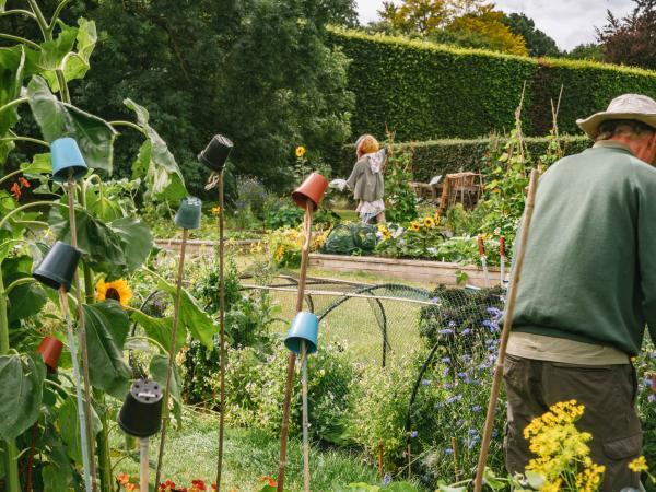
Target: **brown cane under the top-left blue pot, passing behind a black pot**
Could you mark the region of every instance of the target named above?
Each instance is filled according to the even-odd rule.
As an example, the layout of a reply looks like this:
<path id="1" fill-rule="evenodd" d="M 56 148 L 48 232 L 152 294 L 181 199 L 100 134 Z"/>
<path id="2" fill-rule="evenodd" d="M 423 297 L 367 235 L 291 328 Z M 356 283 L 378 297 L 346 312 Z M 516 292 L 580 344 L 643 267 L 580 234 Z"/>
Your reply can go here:
<path id="1" fill-rule="evenodd" d="M 75 179 L 73 178 L 73 169 L 69 172 L 68 180 L 68 204 L 69 204 L 69 224 L 71 231 L 71 246 L 78 247 L 78 225 L 75 221 Z M 91 407 L 91 378 L 89 376 L 89 352 L 86 348 L 86 325 L 84 323 L 84 309 L 82 307 L 82 290 L 80 288 L 80 276 L 75 270 L 73 277 L 75 285 L 75 301 L 78 302 L 78 340 L 80 342 L 80 352 L 82 353 L 82 379 L 84 382 L 84 414 L 86 417 L 85 426 L 86 435 L 90 437 L 87 442 L 87 453 L 90 460 L 91 483 L 94 492 L 97 492 L 97 476 L 95 467 L 95 454 L 93 449 L 93 423 L 92 423 L 92 407 Z M 68 305 L 67 305 L 68 307 Z"/>

